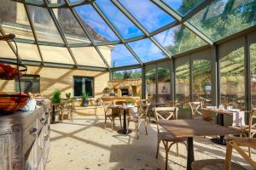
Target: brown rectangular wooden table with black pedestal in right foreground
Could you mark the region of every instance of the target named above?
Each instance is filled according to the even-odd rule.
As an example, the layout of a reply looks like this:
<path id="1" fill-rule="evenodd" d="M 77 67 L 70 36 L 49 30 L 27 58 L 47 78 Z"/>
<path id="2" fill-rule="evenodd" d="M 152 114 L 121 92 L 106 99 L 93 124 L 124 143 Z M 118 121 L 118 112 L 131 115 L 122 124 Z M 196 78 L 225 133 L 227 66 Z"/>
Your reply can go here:
<path id="1" fill-rule="evenodd" d="M 228 127 L 222 127 L 212 122 L 206 122 L 201 119 L 179 119 L 179 120 L 160 120 L 159 125 L 171 133 L 174 137 L 188 138 L 188 157 L 187 169 L 191 169 L 191 163 L 194 161 L 193 137 L 195 136 L 215 136 L 236 134 L 237 132 Z"/>

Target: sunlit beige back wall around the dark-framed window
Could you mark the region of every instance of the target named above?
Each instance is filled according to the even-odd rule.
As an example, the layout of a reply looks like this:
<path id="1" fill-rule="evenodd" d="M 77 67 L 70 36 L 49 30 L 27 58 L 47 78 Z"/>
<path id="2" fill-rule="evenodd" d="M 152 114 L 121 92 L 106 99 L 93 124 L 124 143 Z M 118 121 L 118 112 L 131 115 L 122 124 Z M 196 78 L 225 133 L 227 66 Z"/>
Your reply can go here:
<path id="1" fill-rule="evenodd" d="M 28 66 L 26 74 L 40 75 L 40 92 L 46 97 L 52 96 L 55 89 L 61 91 L 61 97 L 71 92 L 73 95 L 73 76 L 95 77 L 95 97 L 100 97 L 104 88 L 108 87 L 108 71 L 84 71 L 52 67 Z M 0 92 L 14 93 L 15 81 L 0 80 Z"/>

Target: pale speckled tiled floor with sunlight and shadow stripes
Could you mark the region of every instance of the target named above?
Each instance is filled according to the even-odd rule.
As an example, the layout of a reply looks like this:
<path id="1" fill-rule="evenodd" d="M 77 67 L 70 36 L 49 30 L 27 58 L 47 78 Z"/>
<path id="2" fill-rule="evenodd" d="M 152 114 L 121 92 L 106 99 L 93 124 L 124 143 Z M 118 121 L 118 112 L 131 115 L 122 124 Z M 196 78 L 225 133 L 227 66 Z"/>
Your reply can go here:
<path id="1" fill-rule="evenodd" d="M 156 126 L 148 126 L 148 136 L 144 132 L 143 124 L 140 129 L 140 138 L 135 133 L 120 135 L 117 127 L 111 133 L 111 124 L 104 129 L 103 116 L 76 116 L 73 122 L 66 120 L 51 125 L 51 142 L 47 170 L 143 170 L 164 169 L 165 154 L 163 145 L 160 145 L 160 156 L 155 158 Z M 134 129 L 134 125 L 131 124 Z M 225 148 L 212 144 L 209 139 L 195 138 L 195 160 L 224 158 Z M 175 156 L 174 146 L 169 155 L 169 169 L 186 168 L 186 150 L 179 144 L 180 156 Z M 233 152 L 233 161 L 247 168 L 246 162 Z M 253 153 L 256 160 L 256 154 Z"/>

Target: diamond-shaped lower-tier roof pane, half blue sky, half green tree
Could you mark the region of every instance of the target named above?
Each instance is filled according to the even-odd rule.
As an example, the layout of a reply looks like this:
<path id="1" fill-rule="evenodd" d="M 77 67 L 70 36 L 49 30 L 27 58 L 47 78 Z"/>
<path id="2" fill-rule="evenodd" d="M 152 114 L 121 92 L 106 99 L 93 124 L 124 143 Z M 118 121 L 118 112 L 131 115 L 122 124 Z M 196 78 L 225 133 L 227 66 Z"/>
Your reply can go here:
<path id="1" fill-rule="evenodd" d="M 170 54 L 180 54 L 206 45 L 200 37 L 185 26 L 175 26 L 154 36 Z"/>

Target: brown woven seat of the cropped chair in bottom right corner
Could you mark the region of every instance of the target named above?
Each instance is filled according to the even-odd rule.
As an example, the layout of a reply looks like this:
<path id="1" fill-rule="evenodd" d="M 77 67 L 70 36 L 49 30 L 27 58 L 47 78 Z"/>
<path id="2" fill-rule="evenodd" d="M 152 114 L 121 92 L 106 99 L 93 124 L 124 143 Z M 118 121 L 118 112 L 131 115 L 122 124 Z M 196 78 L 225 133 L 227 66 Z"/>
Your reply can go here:
<path id="1" fill-rule="evenodd" d="M 193 170 L 220 170 L 225 167 L 225 160 L 222 159 L 209 159 L 209 160 L 199 160 L 192 162 Z M 241 167 L 241 165 L 231 162 L 231 170 L 246 170 L 246 168 Z"/>

